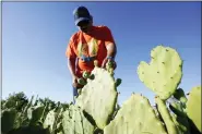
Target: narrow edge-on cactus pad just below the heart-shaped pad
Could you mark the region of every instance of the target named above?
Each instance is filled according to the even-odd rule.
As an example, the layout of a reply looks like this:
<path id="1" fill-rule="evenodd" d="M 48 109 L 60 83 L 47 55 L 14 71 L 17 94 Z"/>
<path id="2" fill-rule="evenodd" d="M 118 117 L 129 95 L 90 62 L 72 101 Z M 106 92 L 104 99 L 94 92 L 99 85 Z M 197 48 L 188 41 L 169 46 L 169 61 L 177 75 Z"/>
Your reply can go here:
<path id="1" fill-rule="evenodd" d="M 157 96 L 155 97 L 155 101 L 157 105 L 157 110 L 166 124 L 168 134 L 178 134 L 177 126 L 175 125 L 173 118 L 166 107 L 166 102 Z"/>

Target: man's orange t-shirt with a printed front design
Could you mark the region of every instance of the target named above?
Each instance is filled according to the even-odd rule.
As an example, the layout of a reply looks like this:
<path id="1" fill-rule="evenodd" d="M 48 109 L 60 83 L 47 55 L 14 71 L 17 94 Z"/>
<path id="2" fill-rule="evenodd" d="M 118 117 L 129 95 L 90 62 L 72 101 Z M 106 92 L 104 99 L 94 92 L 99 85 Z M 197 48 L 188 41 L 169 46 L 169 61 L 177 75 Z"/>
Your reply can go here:
<path id="1" fill-rule="evenodd" d="M 94 62 L 85 62 L 80 59 L 81 56 L 95 57 L 100 66 L 103 60 L 107 57 L 106 46 L 109 42 L 115 44 L 110 29 L 107 26 L 93 26 L 91 35 L 79 31 L 70 38 L 66 56 L 68 58 L 79 58 L 78 70 L 80 73 L 92 71 Z"/>

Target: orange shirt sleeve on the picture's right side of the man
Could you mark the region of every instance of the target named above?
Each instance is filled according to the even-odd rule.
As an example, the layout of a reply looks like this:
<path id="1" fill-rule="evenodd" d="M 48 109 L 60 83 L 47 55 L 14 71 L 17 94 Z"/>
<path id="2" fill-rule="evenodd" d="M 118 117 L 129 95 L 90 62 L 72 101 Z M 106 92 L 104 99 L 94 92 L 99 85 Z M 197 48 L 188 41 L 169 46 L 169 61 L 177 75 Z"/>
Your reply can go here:
<path id="1" fill-rule="evenodd" d="M 112 37 L 111 31 L 107 27 L 104 26 L 104 34 L 105 34 L 105 45 L 107 46 L 108 44 L 115 44 L 115 39 Z"/>

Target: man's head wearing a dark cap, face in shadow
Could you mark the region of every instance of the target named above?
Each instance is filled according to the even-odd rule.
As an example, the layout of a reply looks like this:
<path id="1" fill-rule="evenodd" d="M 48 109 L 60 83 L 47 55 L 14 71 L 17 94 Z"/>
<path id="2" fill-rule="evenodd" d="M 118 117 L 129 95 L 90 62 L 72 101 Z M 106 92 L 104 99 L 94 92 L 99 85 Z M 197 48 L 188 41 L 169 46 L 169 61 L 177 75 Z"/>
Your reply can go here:
<path id="1" fill-rule="evenodd" d="M 75 25 L 84 33 L 88 33 L 93 25 L 93 16 L 85 7 L 79 7 L 73 12 Z"/>

